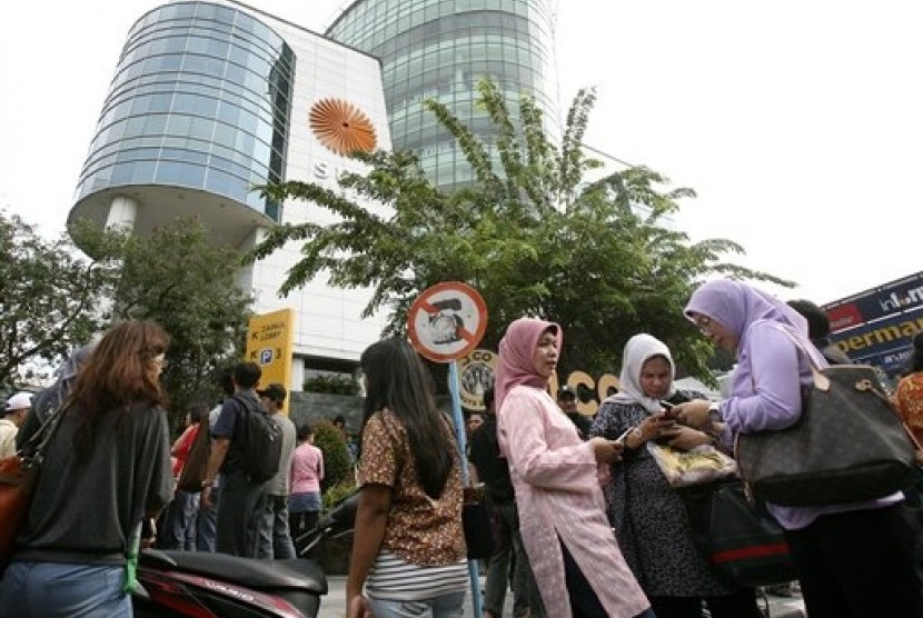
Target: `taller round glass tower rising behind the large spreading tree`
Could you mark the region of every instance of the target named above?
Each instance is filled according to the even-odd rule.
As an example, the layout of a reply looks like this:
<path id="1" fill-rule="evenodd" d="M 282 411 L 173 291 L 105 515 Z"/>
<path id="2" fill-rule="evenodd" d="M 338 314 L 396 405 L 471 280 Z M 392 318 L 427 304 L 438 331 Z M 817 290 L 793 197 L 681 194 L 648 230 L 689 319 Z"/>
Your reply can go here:
<path id="1" fill-rule="evenodd" d="M 554 54 L 555 0 L 357 0 L 328 28 L 331 39 L 381 59 L 395 149 L 417 152 L 443 188 L 473 180 L 455 139 L 425 111 L 436 99 L 489 143 L 487 114 L 475 86 L 488 76 L 517 113 L 535 97 L 546 128 L 560 132 Z"/>

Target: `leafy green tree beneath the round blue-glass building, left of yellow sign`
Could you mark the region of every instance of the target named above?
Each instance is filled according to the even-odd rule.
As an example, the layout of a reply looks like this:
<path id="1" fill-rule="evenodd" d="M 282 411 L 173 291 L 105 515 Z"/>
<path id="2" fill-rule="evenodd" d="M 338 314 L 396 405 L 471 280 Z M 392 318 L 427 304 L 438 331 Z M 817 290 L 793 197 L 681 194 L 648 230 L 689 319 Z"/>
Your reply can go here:
<path id="1" fill-rule="evenodd" d="M 217 395 L 219 368 L 242 355 L 251 300 L 237 283 L 241 253 L 215 245 L 193 218 L 146 236 L 100 231 L 88 222 L 71 233 L 116 267 L 107 318 L 152 319 L 170 335 L 161 380 L 176 427 L 189 403 Z"/>

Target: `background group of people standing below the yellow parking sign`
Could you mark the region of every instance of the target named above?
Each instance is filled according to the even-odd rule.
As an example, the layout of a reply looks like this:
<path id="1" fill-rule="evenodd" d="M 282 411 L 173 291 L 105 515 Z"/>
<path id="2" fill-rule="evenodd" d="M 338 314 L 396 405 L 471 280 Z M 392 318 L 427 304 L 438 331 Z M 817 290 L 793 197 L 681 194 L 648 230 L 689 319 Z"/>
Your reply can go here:
<path id="1" fill-rule="evenodd" d="M 258 388 L 259 366 L 241 362 L 220 376 L 225 399 L 214 408 L 193 403 L 187 427 L 171 448 L 173 478 L 179 479 L 199 431 L 210 439 L 201 487 L 177 487 L 161 515 L 156 546 L 170 550 L 219 551 L 232 556 L 291 559 L 299 538 L 321 510 L 324 456 L 314 446 L 310 425 L 296 428 L 284 413 L 288 392 L 281 383 Z M 245 415 L 266 413 L 278 426 L 278 470 L 255 480 L 245 466 Z"/>

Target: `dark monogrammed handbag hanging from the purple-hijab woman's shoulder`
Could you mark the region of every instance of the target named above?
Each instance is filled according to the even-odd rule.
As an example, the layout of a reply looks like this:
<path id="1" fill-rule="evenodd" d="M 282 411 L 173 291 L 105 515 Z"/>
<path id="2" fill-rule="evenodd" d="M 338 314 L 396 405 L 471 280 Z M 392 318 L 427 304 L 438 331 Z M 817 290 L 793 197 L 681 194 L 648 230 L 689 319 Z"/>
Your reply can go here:
<path id="1" fill-rule="evenodd" d="M 906 487 L 913 446 L 874 369 L 814 357 L 780 327 L 811 362 L 814 386 L 787 429 L 737 436 L 741 476 L 761 499 L 802 507 L 860 502 Z"/>

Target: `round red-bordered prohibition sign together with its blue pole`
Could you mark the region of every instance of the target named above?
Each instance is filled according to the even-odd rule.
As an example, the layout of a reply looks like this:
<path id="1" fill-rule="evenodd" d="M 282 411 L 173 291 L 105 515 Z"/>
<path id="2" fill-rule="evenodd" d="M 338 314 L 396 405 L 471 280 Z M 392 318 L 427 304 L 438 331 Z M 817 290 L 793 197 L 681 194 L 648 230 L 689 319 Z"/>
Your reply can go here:
<path id="1" fill-rule="evenodd" d="M 437 283 L 417 297 L 407 313 L 407 332 L 420 356 L 435 362 L 448 362 L 451 419 L 455 441 L 462 460 L 462 478 L 470 481 L 468 472 L 465 419 L 458 383 L 458 359 L 475 349 L 487 329 L 487 306 L 477 290 L 456 281 Z M 472 604 L 476 618 L 484 611 L 477 560 L 468 560 L 472 581 Z"/>

